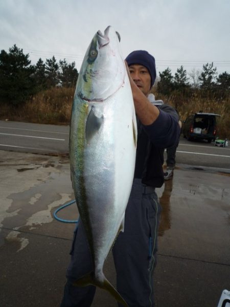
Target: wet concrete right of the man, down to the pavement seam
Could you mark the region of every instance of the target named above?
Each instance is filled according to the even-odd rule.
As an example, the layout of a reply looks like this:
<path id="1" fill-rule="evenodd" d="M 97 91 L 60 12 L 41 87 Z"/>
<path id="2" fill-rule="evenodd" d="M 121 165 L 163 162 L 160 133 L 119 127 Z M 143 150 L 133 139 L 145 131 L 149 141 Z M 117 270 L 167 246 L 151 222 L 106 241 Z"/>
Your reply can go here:
<path id="1" fill-rule="evenodd" d="M 230 265 L 228 173 L 178 166 L 158 194 L 161 253 Z"/>

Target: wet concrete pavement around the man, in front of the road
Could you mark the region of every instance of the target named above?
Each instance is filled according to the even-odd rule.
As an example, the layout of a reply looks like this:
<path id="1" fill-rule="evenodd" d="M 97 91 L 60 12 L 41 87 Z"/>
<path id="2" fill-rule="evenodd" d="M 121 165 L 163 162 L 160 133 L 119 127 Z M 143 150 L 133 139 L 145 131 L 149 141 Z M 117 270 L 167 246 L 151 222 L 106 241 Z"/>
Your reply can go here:
<path id="1" fill-rule="evenodd" d="M 179 164 L 157 193 L 156 307 L 217 306 L 230 290 L 230 174 Z M 53 213 L 74 199 L 68 158 L 0 150 L 0 199 L 0 306 L 59 306 L 75 224 Z M 76 220 L 76 205 L 58 216 Z M 111 255 L 104 271 L 116 284 Z M 117 303 L 99 289 L 92 306 Z"/>

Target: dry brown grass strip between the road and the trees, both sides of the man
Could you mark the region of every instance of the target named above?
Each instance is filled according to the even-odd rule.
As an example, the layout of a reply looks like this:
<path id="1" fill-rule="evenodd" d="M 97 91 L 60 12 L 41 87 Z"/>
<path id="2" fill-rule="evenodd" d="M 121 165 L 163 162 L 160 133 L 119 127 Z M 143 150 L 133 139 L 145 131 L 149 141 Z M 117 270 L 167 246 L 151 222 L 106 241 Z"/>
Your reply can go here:
<path id="1" fill-rule="evenodd" d="M 2 104 L 0 119 L 24 121 L 43 124 L 68 125 L 70 123 L 71 108 L 74 98 L 74 88 L 58 87 L 38 93 L 18 108 Z M 203 112 L 216 113 L 218 118 L 219 138 L 230 138 L 230 97 L 217 101 L 211 98 L 201 98 L 193 95 L 183 100 L 181 96 L 163 97 L 153 91 L 156 99 L 163 99 L 165 103 L 174 106 L 181 120 L 202 110 Z"/>

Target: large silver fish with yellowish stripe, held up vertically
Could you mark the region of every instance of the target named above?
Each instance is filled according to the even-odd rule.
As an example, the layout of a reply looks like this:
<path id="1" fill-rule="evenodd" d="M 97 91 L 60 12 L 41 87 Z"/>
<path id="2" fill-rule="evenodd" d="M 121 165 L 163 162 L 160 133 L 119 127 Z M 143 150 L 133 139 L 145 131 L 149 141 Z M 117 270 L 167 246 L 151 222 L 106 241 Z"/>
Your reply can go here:
<path id="1" fill-rule="evenodd" d="M 71 178 L 94 272 L 75 282 L 94 284 L 127 306 L 103 274 L 131 191 L 136 152 L 136 118 L 131 87 L 112 27 L 98 31 L 79 73 L 70 130 Z"/>

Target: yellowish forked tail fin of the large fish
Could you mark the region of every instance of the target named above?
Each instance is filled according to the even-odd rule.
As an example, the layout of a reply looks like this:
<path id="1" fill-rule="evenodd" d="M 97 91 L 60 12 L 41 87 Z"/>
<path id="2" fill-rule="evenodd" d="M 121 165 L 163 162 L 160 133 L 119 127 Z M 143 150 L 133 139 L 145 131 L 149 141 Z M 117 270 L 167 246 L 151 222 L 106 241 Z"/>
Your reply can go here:
<path id="1" fill-rule="evenodd" d="M 123 299 L 123 297 L 118 293 L 118 291 L 112 286 L 112 284 L 105 278 L 103 275 L 102 278 L 97 279 L 93 272 L 84 275 L 78 280 L 73 282 L 74 286 L 77 287 L 86 287 L 92 284 L 95 287 L 99 287 L 108 291 L 119 303 L 121 303 L 124 307 L 128 307 L 128 304 Z"/>

